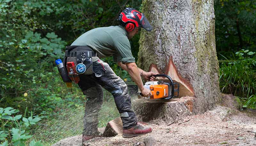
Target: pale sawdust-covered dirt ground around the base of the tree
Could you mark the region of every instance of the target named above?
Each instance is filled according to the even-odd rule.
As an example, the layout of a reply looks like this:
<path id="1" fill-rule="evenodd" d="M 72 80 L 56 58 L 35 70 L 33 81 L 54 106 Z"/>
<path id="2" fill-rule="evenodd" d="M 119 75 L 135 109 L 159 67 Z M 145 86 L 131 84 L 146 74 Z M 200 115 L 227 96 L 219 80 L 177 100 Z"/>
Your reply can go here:
<path id="1" fill-rule="evenodd" d="M 227 95 L 215 109 L 167 125 L 163 120 L 148 122 L 153 132 L 133 138 L 94 138 L 86 146 L 256 146 L 256 114 L 241 112 Z M 233 103 L 234 102 L 234 103 Z M 104 129 L 99 129 L 104 130 Z M 252 132 L 248 132 L 252 131 Z M 82 146 L 82 135 L 63 139 L 53 146 Z"/>

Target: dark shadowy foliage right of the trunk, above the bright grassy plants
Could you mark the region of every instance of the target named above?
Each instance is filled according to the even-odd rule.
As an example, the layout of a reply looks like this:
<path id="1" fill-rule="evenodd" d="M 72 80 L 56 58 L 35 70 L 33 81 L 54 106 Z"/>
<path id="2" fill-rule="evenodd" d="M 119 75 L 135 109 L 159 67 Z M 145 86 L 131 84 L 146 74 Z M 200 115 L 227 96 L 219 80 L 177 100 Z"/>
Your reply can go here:
<path id="1" fill-rule="evenodd" d="M 256 51 L 255 0 L 216 0 L 214 10 L 217 52 L 232 57 L 240 49 Z"/>

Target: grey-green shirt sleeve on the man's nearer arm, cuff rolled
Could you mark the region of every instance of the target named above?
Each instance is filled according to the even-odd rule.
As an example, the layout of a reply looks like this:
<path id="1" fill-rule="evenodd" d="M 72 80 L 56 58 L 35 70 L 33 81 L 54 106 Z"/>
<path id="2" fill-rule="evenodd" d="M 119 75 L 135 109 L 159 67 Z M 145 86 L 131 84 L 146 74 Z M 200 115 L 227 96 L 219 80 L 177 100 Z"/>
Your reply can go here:
<path id="1" fill-rule="evenodd" d="M 126 36 L 116 38 L 114 40 L 114 47 L 118 53 L 118 55 L 115 55 L 117 57 L 117 62 L 118 59 L 119 61 L 122 61 L 123 64 L 125 62 L 135 62 L 135 58 L 132 56 L 131 44 Z"/>

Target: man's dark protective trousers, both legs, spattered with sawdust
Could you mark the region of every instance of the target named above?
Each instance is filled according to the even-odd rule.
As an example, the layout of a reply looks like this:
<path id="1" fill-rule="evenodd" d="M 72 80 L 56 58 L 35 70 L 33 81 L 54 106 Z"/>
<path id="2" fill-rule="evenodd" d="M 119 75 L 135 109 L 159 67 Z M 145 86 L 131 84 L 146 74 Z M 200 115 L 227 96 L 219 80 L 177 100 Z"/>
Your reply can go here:
<path id="1" fill-rule="evenodd" d="M 99 134 L 98 112 L 103 101 L 101 87 L 112 93 L 123 121 L 123 128 L 129 129 L 137 124 L 137 117 L 132 110 L 128 87 L 120 77 L 116 76 L 108 63 L 101 60 L 93 62 L 93 74 L 80 76 L 78 85 L 88 99 L 84 111 L 83 135 Z"/>

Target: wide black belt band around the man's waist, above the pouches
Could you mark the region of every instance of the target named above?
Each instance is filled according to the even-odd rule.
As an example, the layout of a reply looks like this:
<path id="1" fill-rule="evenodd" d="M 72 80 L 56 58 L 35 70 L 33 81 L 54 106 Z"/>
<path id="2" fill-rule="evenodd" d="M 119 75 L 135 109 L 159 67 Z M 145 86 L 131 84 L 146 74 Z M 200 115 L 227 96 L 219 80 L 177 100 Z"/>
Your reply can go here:
<path id="1" fill-rule="evenodd" d="M 65 57 L 76 57 L 76 51 L 92 51 L 92 57 L 97 56 L 97 53 L 89 46 L 69 46 L 66 47 Z"/>

